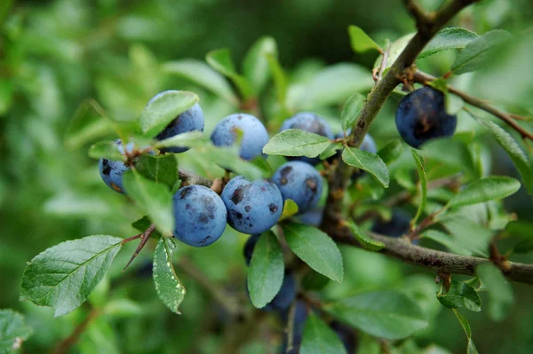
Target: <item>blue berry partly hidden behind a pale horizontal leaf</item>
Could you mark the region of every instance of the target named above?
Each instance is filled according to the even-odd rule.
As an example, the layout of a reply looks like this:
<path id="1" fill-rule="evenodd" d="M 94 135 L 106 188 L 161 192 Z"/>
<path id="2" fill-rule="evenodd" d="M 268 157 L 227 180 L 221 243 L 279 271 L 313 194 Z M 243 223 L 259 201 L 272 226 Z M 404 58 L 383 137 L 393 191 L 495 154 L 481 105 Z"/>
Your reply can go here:
<path id="1" fill-rule="evenodd" d="M 305 130 L 310 133 L 322 135 L 322 137 L 326 137 L 329 139 L 333 138 L 333 130 L 331 130 L 330 124 L 328 124 L 328 122 L 326 122 L 320 115 L 314 113 L 302 112 L 287 119 L 285 122 L 282 123 L 282 128 L 280 129 L 280 131 L 288 129 Z M 320 162 L 320 159 L 318 157 L 309 158 L 306 156 L 298 156 L 288 157 L 288 159 L 305 161 L 312 165 L 316 165 Z"/>

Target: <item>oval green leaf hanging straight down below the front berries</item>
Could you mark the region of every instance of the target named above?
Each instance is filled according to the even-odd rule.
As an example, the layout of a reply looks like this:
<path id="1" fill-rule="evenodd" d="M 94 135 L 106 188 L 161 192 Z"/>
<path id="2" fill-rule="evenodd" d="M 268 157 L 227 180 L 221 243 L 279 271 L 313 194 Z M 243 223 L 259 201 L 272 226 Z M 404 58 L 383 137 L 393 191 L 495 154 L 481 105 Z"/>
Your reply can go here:
<path id="1" fill-rule="evenodd" d="M 263 233 L 253 249 L 247 279 L 255 307 L 263 308 L 274 299 L 282 287 L 284 270 L 282 248 L 274 233 Z"/>

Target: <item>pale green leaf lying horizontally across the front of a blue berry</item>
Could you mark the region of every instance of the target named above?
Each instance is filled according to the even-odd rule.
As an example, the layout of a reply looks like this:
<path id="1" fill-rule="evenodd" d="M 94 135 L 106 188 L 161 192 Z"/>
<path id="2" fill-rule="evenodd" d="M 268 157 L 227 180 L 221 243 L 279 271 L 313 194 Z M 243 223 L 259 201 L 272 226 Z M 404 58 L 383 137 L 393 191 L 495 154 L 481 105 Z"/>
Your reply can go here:
<path id="1" fill-rule="evenodd" d="M 305 130 L 283 130 L 272 137 L 263 153 L 282 156 L 316 157 L 330 146 L 330 139 Z"/>

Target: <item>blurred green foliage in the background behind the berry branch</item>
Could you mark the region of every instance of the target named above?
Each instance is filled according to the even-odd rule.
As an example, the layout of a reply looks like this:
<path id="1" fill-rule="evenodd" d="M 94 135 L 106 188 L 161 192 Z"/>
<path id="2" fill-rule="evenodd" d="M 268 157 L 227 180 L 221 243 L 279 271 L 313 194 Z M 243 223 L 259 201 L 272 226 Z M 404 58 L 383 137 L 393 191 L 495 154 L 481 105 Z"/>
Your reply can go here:
<path id="1" fill-rule="evenodd" d="M 35 334 L 24 344 L 24 352 L 52 350 L 84 319 L 91 306 L 103 304 L 105 314 L 93 322 L 72 352 L 220 352 L 221 342 L 232 327 L 224 326 L 227 313 L 212 300 L 212 289 L 203 287 L 202 281 L 195 277 L 197 270 L 203 273 L 203 280 L 221 291 L 235 293 L 238 299 L 244 296 L 243 303 L 246 303 L 241 255 L 246 237 L 229 228 L 228 235 L 213 247 L 195 249 L 195 252 L 184 248 L 176 256 L 178 264 L 183 265 L 180 276 L 187 287 L 182 316 L 167 311 L 155 296 L 147 249 L 122 273 L 123 264 L 135 248 L 131 244 L 117 256 L 113 270 L 91 302 L 68 316 L 52 319 L 50 309 L 19 302 L 25 264 L 45 248 L 91 234 L 128 237 L 137 233 L 131 222 L 141 216 L 139 210 L 101 182 L 97 161 L 87 156 L 88 146 L 106 131 L 101 127 L 80 130 L 76 139 L 65 139 L 76 110 L 86 98 L 95 99 L 114 119 L 128 121 L 136 119 L 157 92 L 193 90 L 201 97 L 209 134 L 216 122 L 239 108 L 211 90 L 196 86 L 184 75 L 163 70 L 163 63 L 182 59 L 203 61 L 208 51 L 227 47 L 240 67 L 251 44 L 263 35 L 270 35 L 277 42 L 279 61 L 290 77 L 292 107 L 313 109 L 325 115 L 338 131 L 339 108 L 354 90 L 370 88 L 370 70 L 376 59 L 371 53 L 354 54 L 346 28 L 357 25 L 378 43 L 386 43 L 386 39 L 394 41 L 415 29 L 401 3 L 397 0 L 3 0 L 0 4 L 0 308 L 24 313 L 28 324 L 34 326 Z M 420 3 L 427 9 L 435 9 L 442 1 Z M 532 115 L 533 35 L 524 32 L 532 20 L 530 0 L 484 0 L 462 12 L 454 25 L 478 34 L 504 28 L 518 39 L 487 70 L 457 78 L 457 86 L 513 112 Z M 453 58 L 453 52 L 442 52 L 420 60 L 419 66 L 430 74 L 442 75 Z M 316 78 L 331 74 L 331 70 L 346 72 L 344 82 L 333 84 L 333 88 L 321 87 L 321 81 Z M 268 86 L 259 101 L 265 119 L 272 112 L 271 89 Z M 333 89 L 340 93 L 327 98 L 327 92 Z M 398 98 L 390 98 L 371 128 L 378 147 L 391 138 L 398 138 L 394 127 L 397 102 Z M 461 116 L 460 122 L 460 131 L 477 129 L 468 116 Z M 271 127 L 275 128 L 275 124 Z M 487 171 L 516 175 L 505 153 L 488 146 Z M 193 162 L 194 155 L 184 154 L 184 165 Z M 531 200 L 525 193 L 510 199 L 506 207 L 521 218 L 533 218 Z M 418 346 L 435 344 L 449 352 L 465 351 L 463 329 L 453 313 L 434 299 L 438 286 L 431 273 L 360 249 L 343 248 L 343 253 L 346 280 L 341 285 L 328 285 L 324 295 L 336 297 L 379 287 L 411 291 L 419 295 L 420 302 L 434 316 L 433 325 L 416 336 Z M 533 261 L 527 255 L 517 259 Z M 487 311 L 465 313 L 481 353 L 533 352 L 533 291 L 531 287 L 516 284 L 513 289 L 516 302 L 505 320 L 496 322 L 489 318 Z M 274 317 L 267 322 L 271 326 L 257 328 L 257 339 L 248 342 L 240 352 L 271 352 L 267 350 L 265 338 L 272 343 L 279 342 L 282 324 Z M 273 344 L 271 349 L 274 347 Z"/>

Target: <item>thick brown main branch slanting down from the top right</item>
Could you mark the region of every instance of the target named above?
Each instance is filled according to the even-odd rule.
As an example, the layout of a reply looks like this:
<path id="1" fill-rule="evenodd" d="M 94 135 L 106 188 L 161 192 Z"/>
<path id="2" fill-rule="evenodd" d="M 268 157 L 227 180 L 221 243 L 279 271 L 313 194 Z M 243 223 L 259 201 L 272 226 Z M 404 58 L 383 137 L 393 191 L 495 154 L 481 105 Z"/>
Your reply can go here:
<path id="1" fill-rule="evenodd" d="M 454 0 L 442 7 L 439 12 L 432 14 L 431 21 L 428 21 L 424 26 L 418 26 L 417 34 L 413 36 L 398 59 L 394 61 L 383 79 L 370 90 L 367 101 L 362 106 L 357 123 L 347 137 L 348 146 L 361 146 L 362 139 L 368 132 L 370 124 L 378 115 L 381 107 L 385 104 L 386 98 L 402 82 L 399 77 L 409 75 L 414 71 L 412 65 L 426 44 L 457 12 L 460 12 L 465 6 L 473 4 L 473 2 L 475 0 Z M 352 169 L 347 167 L 344 161 L 338 160 L 337 167 L 333 171 L 332 177 L 330 177 L 330 192 L 328 193 L 322 224 L 339 225 L 342 215 L 343 196 L 351 171 Z"/>

